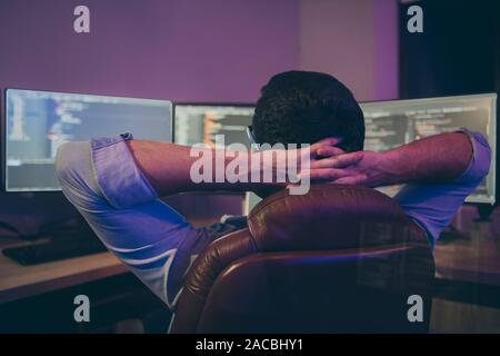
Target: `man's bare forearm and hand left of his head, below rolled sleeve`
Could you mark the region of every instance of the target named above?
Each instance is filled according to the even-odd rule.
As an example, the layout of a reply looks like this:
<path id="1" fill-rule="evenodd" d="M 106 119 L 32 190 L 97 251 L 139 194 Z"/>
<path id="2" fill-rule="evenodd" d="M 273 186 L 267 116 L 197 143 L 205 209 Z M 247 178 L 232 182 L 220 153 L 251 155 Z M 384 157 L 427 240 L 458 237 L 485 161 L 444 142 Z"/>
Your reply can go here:
<path id="1" fill-rule="evenodd" d="M 278 182 L 276 178 L 280 174 L 289 178 L 283 169 L 287 168 L 284 164 L 290 164 L 291 160 L 296 161 L 298 172 L 300 172 L 301 164 L 308 159 L 310 162 L 308 172 L 309 170 L 314 172 L 317 169 L 321 169 L 321 171 L 328 172 L 330 177 L 340 178 L 346 175 L 341 168 L 357 164 L 362 158 L 362 152 L 342 155 L 344 152 L 334 147 L 339 142 L 340 139 L 338 138 L 327 138 L 311 145 L 309 149 L 272 150 L 272 152 L 236 152 L 207 148 L 197 149 L 197 155 L 191 154 L 192 148 L 174 144 L 129 140 L 127 145 L 138 167 L 157 194 L 168 196 L 194 190 L 246 191 L 260 189 L 263 186 L 284 187 L 290 181 L 287 179 L 283 182 Z M 270 155 L 272 155 L 272 159 L 270 159 Z M 191 177 L 191 169 L 201 156 L 209 157 L 211 160 L 211 179 L 210 181 L 194 182 Z M 234 162 L 241 167 L 236 175 L 237 181 L 228 181 L 227 177 L 218 181 L 216 170 L 226 171 L 228 166 Z M 256 165 L 256 162 L 259 164 Z M 266 170 L 272 172 L 272 182 L 263 181 Z"/>

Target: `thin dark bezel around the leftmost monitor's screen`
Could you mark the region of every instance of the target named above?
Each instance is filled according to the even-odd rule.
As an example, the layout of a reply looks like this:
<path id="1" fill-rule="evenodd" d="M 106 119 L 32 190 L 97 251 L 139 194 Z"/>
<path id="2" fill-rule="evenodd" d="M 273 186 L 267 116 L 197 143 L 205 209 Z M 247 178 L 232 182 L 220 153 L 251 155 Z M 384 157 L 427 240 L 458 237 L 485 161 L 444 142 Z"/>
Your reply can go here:
<path id="1" fill-rule="evenodd" d="M 57 90 L 43 90 L 43 89 L 26 89 L 26 88 L 4 88 L 2 91 L 0 91 L 1 96 L 1 122 L 0 122 L 0 137 L 1 137 L 1 184 L 2 184 L 2 191 L 6 194 L 51 194 L 51 192 L 61 192 L 61 188 L 59 189 L 9 189 L 7 184 L 7 95 L 9 90 L 26 90 L 26 91 L 38 91 L 38 92 L 49 92 L 49 93 L 61 93 L 61 95 L 77 95 L 77 96 L 93 96 L 93 97 L 104 97 L 104 98 L 116 98 L 116 99 L 139 99 L 139 100 L 148 100 L 148 101 L 161 101 L 164 103 L 168 103 L 170 107 L 170 132 L 169 137 L 171 142 L 173 142 L 173 100 L 168 99 L 159 99 L 159 98 L 141 98 L 141 97 L 123 97 L 123 96 L 112 96 L 112 95 L 100 95 L 100 93 L 90 93 L 90 92 L 74 92 L 74 91 L 57 91 Z M 133 132 L 132 132 L 133 134 Z"/>

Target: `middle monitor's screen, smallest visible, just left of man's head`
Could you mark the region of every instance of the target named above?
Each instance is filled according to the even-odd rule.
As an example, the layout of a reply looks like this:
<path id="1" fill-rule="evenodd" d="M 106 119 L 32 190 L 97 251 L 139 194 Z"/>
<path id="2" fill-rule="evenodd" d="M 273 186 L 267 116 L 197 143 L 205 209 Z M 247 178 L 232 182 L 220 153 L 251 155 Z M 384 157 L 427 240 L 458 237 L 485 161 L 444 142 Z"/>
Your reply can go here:
<path id="1" fill-rule="evenodd" d="M 179 145 L 203 142 L 217 148 L 242 144 L 249 149 L 247 127 L 252 125 L 252 106 L 176 105 L 174 140 Z M 223 135 L 224 145 L 216 140 L 216 135 Z"/>

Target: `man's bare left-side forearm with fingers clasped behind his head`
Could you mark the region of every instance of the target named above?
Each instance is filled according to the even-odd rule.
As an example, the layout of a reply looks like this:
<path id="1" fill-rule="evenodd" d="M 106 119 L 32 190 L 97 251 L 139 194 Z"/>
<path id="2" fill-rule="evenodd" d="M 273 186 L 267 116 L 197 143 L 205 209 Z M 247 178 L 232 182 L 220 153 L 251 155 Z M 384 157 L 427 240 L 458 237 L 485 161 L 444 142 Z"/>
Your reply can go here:
<path id="1" fill-rule="evenodd" d="M 301 149 L 259 152 L 193 149 L 142 140 L 130 140 L 127 145 L 157 194 L 167 196 L 196 190 L 263 191 L 290 184 L 294 189 L 291 194 L 301 194 L 300 188 L 308 187 L 316 172 L 327 174 L 333 180 L 344 174 L 340 168 L 360 161 L 360 155 L 343 155 L 342 149 L 334 147 L 338 142 L 339 138 L 326 138 Z"/>

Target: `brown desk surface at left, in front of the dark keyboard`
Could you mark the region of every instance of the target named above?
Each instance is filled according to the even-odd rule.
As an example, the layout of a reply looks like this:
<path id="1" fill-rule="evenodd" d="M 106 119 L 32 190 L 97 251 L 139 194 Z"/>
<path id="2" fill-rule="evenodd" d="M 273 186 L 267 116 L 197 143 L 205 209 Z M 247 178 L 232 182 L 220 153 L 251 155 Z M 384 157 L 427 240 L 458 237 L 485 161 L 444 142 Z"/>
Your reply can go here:
<path id="1" fill-rule="evenodd" d="M 190 219 L 206 226 L 219 217 Z M 0 249 L 19 245 L 19 240 L 0 240 Z M 47 264 L 22 266 L 0 254 L 0 304 L 38 294 L 67 288 L 127 273 L 127 267 L 112 254 L 102 253 Z"/>

